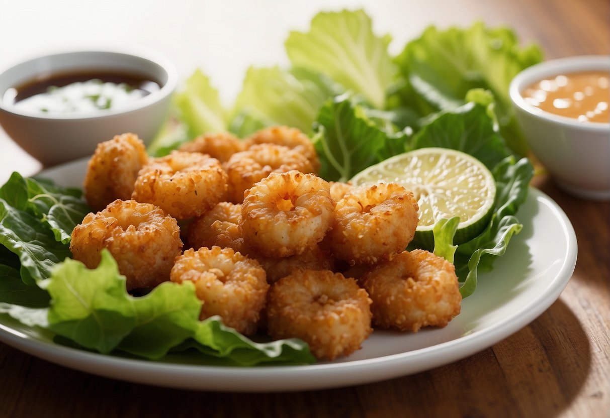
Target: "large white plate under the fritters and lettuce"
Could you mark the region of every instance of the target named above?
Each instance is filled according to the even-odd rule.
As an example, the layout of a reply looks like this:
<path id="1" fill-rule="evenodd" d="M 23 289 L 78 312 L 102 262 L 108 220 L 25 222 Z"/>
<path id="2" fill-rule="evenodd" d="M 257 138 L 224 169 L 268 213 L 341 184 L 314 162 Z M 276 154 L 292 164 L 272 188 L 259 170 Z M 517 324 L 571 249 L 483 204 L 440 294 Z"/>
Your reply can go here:
<path id="1" fill-rule="evenodd" d="M 85 160 L 41 175 L 79 186 Z M 536 319 L 561 294 L 576 264 L 576 236 L 565 213 L 531 188 L 520 208 L 522 232 L 479 277 L 462 313 L 445 328 L 418 333 L 375 331 L 362 350 L 310 366 L 218 367 L 101 355 L 55 344 L 52 335 L 0 316 L 0 339 L 17 349 L 73 369 L 138 383 L 213 391 L 297 391 L 368 383 L 421 372 L 490 347 Z"/>

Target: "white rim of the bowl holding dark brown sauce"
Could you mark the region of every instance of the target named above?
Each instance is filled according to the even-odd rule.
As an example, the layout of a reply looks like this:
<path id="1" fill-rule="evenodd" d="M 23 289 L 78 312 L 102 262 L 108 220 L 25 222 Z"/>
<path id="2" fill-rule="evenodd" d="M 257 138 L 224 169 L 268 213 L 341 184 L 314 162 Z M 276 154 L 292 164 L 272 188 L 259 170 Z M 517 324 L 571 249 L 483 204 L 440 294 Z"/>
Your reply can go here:
<path id="1" fill-rule="evenodd" d="M 15 107 L 13 105 L 7 105 L 2 100 L 0 96 L 0 110 L 6 113 L 12 113 L 13 115 L 18 115 L 24 118 L 31 119 L 49 119 L 49 120 L 78 120 L 84 121 L 87 119 L 101 119 L 108 118 L 109 116 L 122 115 L 124 113 L 134 112 L 136 110 L 140 110 L 142 108 L 148 107 L 156 102 L 163 100 L 165 97 L 169 96 L 176 90 L 176 86 L 178 85 L 178 71 L 171 61 L 162 54 L 159 54 L 156 51 L 152 51 L 150 49 L 146 49 L 143 47 L 137 48 L 127 48 L 125 46 L 112 46 L 112 47 L 103 47 L 103 48 L 95 48 L 95 49 L 87 49 L 87 48 L 79 48 L 79 49 L 65 49 L 58 50 L 52 53 L 44 54 L 44 55 L 35 55 L 34 57 L 27 58 L 26 60 L 22 60 L 17 63 L 13 63 L 0 71 L 0 77 L 2 77 L 5 73 L 10 71 L 13 68 L 18 66 L 27 66 L 27 65 L 35 65 L 35 62 L 40 60 L 45 60 L 51 57 L 57 57 L 60 55 L 78 55 L 78 54 L 110 54 L 110 55 L 125 55 L 129 57 L 140 58 L 143 60 L 147 60 L 152 64 L 158 66 L 162 69 L 165 74 L 167 74 L 167 80 L 162 83 L 159 90 L 153 91 L 151 94 L 148 94 L 144 97 L 140 97 L 139 99 L 127 102 L 122 104 L 118 108 L 109 108 L 102 110 L 93 110 L 91 112 L 82 112 L 82 113 L 44 113 L 44 112 L 36 112 L 35 110 L 27 110 Z M 85 62 L 86 63 L 86 62 Z M 92 67 L 92 69 L 95 69 Z M 116 66 L 117 70 L 121 70 L 121 66 Z M 51 70 L 54 71 L 54 70 Z M 150 71 L 145 71 L 142 69 L 142 73 L 149 75 Z M 14 88 L 14 86 L 13 86 Z M 0 91 L 0 94 L 4 94 L 5 91 Z"/>

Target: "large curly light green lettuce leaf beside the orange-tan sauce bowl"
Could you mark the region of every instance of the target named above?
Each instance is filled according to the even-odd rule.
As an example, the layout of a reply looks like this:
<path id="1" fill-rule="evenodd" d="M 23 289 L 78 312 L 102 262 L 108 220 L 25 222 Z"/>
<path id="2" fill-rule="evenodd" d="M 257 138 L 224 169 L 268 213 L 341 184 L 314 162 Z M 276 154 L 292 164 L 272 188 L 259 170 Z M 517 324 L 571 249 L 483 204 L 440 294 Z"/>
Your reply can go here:
<path id="1" fill-rule="evenodd" d="M 404 82 L 399 102 L 428 115 L 463 104 L 473 88 L 489 90 L 508 146 L 525 155 L 528 147 L 516 124 L 508 86 L 520 71 L 541 61 L 541 49 L 520 48 L 508 27 L 489 28 L 481 22 L 466 29 L 431 26 L 395 58 Z"/>

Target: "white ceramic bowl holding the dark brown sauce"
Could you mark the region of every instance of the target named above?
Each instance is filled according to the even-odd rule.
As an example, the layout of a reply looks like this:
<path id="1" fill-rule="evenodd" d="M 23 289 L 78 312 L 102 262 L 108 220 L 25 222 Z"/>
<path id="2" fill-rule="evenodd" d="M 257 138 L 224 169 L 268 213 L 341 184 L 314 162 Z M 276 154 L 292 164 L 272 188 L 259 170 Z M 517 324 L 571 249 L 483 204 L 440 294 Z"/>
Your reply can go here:
<path id="1" fill-rule="evenodd" d="M 89 113 L 34 112 L 2 102 L 9 88 L 30 82 L 41 74 L 96 70 L 142 74 L 159 82 L 161 88 L 115 109 Z M 0 73 L 0 125 L 46 166 L 91 155 L 99 142 L 124 132 L 136 133 L 148 143 L 165 120 L 177 82 L 174 66 L 154 52 L 113 49 L 46 55 Z"/>

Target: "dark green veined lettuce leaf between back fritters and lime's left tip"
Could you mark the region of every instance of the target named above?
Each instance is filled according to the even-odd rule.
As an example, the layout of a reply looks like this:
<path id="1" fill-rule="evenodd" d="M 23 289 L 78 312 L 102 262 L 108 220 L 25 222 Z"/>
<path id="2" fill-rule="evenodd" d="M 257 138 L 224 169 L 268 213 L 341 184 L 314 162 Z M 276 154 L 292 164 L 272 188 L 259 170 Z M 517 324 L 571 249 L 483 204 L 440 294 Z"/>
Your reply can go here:
<path id="1" fill-rule="evenodd" d="M 323 105 L 314 125 L 320 177 L 346 182 L 357 172 L 398 152 L 403 136 L 391 138 L 368 119 L 348 94 Z M 392 143 L 398 141 L 398 145 Z M 404 146 L 402 147 L 404 151 Z"/>

